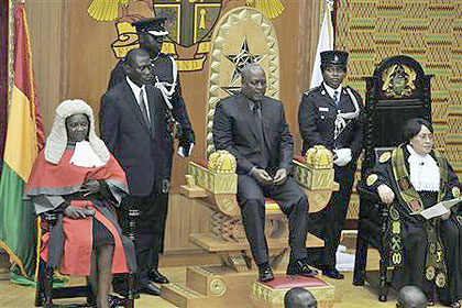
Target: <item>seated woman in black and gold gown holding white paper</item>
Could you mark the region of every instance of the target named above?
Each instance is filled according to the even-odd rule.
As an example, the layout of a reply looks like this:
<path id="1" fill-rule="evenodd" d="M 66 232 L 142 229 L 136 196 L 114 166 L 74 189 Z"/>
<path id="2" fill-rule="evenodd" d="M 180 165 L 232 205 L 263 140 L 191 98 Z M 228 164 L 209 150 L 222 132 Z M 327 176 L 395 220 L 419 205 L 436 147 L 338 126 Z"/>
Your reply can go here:
<path id="1" fill-rule="evenodd" d="M 440 152 L 433 148 L 431 124 L 411 119 L 404 128 L 406 142 L 385 152 L 369 172 L 364 189 L 378 195 L 389 207 L 391 258 L 398 288 L 415 285 L 433 289 L 449 307 L 462 299 L 462 206 L 426 220 L 420 211 L 441 200 L 460 198 L 459 179 Z"/>

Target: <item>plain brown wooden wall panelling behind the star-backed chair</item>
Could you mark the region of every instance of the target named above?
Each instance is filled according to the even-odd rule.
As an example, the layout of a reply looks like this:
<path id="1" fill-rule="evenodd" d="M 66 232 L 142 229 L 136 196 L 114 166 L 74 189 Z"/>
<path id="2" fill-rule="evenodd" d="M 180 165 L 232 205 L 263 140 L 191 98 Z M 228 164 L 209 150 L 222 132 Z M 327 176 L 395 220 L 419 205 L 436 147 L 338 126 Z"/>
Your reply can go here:
<path id="1" fill-rule="evenodd" d="M 64 98 L 81 98 L 99 111 L 110 73 L 117 63 L 110 44 L 117 40 L 113 22 L 96 22 L 86 12 L 91 1 L 28 0 L 33 52 L 42 114 L 46 131 L 53 122 L 57 103 Z M 223 1 L 224 11 L 244 6 L 245 0 Z M 148 11 L 144 2 L 133 2 L 130 10 Z M 311 62 L 319 30 L 319 1 L 284 1 L 284 13 L 273 20 L 280 47 L 280 99 L 299 153 L 297 111 L 302 91 L 309 86 Z M 193 55 L 195 46 L 179 48 Z M 183 95 L 194 125 L 197 144 L 194 157 L 206 151 L 207 78 L 209 61 L 202 72 L 182 73 Z M 184 183 L 187 160 L 174 158 L 173 193 L 166 230 L 166 252 L 197 250 L 188 235 L 208 230 L 210 210 L 200 201 L 177 194 Z"/>

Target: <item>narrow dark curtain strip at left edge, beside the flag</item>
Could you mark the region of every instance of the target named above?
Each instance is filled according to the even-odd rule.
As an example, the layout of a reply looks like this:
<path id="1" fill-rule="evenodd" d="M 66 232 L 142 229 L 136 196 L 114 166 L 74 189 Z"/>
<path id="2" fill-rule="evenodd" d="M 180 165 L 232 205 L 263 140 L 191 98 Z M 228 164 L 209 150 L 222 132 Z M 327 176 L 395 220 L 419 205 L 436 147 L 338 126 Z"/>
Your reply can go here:
<path id="1" fill-rule="evenodd" d="M 0 174 L 3 165 L 3 147 L 7 134 L 8 105 L 8 6 L 9 1 L 1 1 L 0 11 Z"/>

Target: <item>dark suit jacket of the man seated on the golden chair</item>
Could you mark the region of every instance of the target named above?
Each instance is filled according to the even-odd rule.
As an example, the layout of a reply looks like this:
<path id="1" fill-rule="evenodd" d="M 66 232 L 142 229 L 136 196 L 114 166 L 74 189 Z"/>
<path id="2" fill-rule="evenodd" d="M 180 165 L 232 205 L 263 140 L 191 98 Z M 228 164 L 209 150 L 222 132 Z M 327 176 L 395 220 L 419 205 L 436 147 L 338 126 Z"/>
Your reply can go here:
<path id="1" fill-rule="evenodd" d="M 283 103 L 268 97 L 262 100 L 266 148 L 261 148 L 253 117 L 249 101 L 242 94 L 221 100 L 213 118 L 215 147 L 227 150 L 235 156 L 239 174 L 248 174 L 256 166 L 262 151 L 270 151 L 267 172 L 274 175 L 278 168 L 285 168 L 289 173 L 294 142 L 287 128 Z"/>

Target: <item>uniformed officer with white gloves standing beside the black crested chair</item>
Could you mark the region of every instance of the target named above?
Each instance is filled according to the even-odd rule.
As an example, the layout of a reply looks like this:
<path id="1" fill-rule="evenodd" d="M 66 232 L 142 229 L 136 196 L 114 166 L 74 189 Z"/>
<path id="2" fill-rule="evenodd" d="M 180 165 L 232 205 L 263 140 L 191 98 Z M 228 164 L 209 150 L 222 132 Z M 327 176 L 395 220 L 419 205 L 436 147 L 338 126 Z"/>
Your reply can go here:
<path id="1" fill-rule="evenodd" d="M 326 248 L 321 261 L 323 274 L 343 279 L 336 268 L 336 252 L 344 227 L 351 189 L 353 187 L 356 160 L 362 148 L 362 101 L 350 87 L 342 87 L 346 74 L 348 53 L 328 51 L 321 53 L 323 81 L 304 94 L 298 111 L 298 121 L 305 152 L 317 144 L 333 152 L 336 191 L 328 207 L 310 215 L 310 231 L 324 239 Z M 312 229 L 312 230 L 311 230 Z"/>

